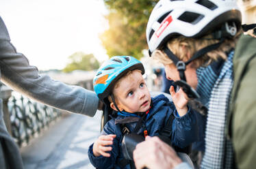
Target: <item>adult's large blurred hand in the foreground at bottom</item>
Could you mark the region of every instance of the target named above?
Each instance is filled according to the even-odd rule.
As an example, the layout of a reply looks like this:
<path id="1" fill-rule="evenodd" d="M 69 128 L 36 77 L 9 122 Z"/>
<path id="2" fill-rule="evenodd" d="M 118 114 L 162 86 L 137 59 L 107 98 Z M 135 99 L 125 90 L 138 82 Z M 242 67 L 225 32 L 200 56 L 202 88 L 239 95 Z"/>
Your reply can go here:
<path id="1" fill-rule="evenodd" d="M 144 142 L 137 144 L 133 151 L 133 160 L 136 168 L 170 169 L 182 162 L 172 147 L 157 136 L 146 136 Z"/>

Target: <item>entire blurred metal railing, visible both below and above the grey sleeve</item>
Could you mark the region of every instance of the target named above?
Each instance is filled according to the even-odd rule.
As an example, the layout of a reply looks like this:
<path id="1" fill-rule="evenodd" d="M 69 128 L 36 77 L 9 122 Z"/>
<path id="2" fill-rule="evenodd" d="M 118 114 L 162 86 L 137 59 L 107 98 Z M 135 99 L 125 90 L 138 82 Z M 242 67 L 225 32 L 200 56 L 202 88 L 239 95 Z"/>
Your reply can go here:
<path id="1" fill-rule="evenodd" d="M 81 80 L 77 85 L 92 90 L 92 79 Z M 61 110 L 13 92 L 1 82 L 0 87 L 5 125 L 19 147 L 27 145 L 62 114 Z"/>

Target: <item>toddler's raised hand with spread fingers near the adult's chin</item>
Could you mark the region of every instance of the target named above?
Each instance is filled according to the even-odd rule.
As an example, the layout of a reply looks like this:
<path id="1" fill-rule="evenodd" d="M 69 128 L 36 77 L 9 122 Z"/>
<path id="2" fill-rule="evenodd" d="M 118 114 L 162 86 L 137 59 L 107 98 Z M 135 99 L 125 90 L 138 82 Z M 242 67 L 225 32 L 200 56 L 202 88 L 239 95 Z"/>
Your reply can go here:
<path id="1" fill-rule="evenodd" d="M 179 113 L 179 116 L 187 114 L 188 112 L 188 97 L 185 92 L 180 88 L 176 93 L 175 88 L 173 86 L 170 87 L 170 95 L 172 96 L 172 102 L 175 104 L 175 107 Z"/>

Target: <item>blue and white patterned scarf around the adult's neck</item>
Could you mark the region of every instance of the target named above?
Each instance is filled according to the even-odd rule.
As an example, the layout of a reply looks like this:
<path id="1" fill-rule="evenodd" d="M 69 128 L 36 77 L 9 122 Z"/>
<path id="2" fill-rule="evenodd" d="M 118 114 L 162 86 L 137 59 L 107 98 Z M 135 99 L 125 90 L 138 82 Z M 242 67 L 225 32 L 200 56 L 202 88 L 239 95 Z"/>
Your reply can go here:
<path id="1" fill-rule="evenodd" d="M 201 168 L 232 168 L 233 149 L 231 142 L 225 137 L 225 125 L 233 87 L 233 54 L 233 50 L 229 52 L 220 72 L 214 73 L 211 66 L 197 72 L 199 77 L 204 77 L 199 79 L 203 85 L 199 86 L 197 91 L 208 108 L 205 155 Z M 216 73 L 219 75 L 216 76 Z M 207 76 L 201 76 L 202 74 Z M 207 97 L 209 91 L 210 97 Z"/>

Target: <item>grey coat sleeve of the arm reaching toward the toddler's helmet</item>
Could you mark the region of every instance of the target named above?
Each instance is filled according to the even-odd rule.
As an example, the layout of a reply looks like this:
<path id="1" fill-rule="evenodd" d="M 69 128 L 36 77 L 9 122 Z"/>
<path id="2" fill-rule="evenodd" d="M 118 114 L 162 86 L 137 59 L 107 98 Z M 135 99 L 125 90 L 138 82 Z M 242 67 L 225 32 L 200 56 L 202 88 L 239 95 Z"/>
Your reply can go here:
<path id="1" fill-rule="evenodd" d="M 27 58 L 10 43 L 8 31 L 0 17 L 0 69 L 1 81 L 27 97 L 54 108 L 94 116 L 99 99 L 82 87 L 70 86 L 40 76 L 37 67 L 29 65 Z"/>

